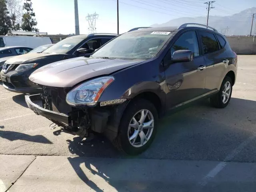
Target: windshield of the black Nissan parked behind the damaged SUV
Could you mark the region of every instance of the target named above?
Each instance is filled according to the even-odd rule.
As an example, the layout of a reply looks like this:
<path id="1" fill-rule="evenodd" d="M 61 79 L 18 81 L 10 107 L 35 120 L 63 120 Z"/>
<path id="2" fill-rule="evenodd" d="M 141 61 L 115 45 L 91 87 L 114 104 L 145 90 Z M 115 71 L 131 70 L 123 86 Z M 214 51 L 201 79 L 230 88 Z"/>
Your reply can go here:
<path id="1" fill-rule="evenodd" d="M 54 44 L 43 53 L 66 53 L 80 43 L 84 38 L 69 37 Z"/>

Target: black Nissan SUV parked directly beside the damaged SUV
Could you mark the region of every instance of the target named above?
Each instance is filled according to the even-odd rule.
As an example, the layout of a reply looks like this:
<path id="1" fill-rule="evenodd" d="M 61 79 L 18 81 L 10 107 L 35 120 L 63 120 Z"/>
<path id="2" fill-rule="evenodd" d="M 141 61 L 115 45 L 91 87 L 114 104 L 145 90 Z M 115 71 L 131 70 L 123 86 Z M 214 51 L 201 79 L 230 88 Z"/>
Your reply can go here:
<path id="1" fill-rule="evenodd" d="M 18 93 L 36 93 L 40 87 L 28 80 L 36 69 L 60 60 L 85 56 L 116 37 L 117 34 L 90 34 L 68 37 L 42 53 L 30 53 L 7 60 L 0 73 L 3 86 Z"/>

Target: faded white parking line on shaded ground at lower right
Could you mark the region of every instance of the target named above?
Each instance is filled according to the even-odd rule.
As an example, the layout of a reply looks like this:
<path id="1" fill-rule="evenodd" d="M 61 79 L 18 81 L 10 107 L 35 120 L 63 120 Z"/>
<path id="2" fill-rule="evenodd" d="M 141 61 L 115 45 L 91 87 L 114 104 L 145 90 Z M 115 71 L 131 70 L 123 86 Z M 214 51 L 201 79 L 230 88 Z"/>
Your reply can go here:
<path id="1" fill-rule="evenodd" d="M 205 186 L 212 178 L 214 178 L 227 164 L 227 161 L 232 160 L 238 153 L 240 153 L 246 145 L 248 145 L 252 140 L 256 138 L 256 134 L 250 136 L 244 142 L 242 142 L 237 148 L 235 148 L 226 158 L 224 162 L 220 162 L 216 167 L 214 167 L 210 172 L 201 180 L 199 183 L 201 186 Z"/>

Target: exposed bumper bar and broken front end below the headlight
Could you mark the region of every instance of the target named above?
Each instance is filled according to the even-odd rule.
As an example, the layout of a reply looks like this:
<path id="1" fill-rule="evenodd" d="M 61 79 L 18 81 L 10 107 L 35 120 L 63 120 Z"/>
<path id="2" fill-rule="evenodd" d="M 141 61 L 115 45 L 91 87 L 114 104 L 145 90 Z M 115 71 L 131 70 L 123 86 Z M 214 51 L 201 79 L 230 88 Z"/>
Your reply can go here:
<path id="1" fill-rule="evenodd" d="M 90 132 L 105 133 L 113 140 L 118 130 L 117 119 L 121 118 L 116 115 L 120 112 L 120 106 L 70 106 L 66 103 L 69 91 L 70 88 L 42 86 L 41 94 L 27 95 L 25 99 L 28 107 L 37 115 L 48 118 L 72 134 L 88 137 Z"/>

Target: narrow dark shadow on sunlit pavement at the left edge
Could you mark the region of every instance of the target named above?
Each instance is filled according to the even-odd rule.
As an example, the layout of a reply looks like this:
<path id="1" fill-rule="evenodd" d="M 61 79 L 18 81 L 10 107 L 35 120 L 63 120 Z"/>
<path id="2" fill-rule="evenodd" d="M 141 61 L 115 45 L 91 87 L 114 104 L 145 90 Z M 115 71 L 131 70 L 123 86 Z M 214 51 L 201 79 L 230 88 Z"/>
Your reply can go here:
<path id="1" fill-rule="evenodd" d="M 36 143 L 44 143 L 44 144 L 52 144 L 50 140 L 45 138 L 42 135 L 28 135 L 20 132 L 14 132 L 14 131 L 1 131 L 0 130 L 0 137 L 4 139 L 8 139 L 10 141 L 14 140 L 25 140 L 30 142 L 36 142 Z"/>

